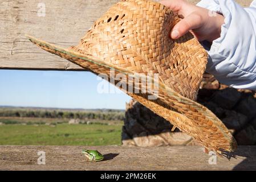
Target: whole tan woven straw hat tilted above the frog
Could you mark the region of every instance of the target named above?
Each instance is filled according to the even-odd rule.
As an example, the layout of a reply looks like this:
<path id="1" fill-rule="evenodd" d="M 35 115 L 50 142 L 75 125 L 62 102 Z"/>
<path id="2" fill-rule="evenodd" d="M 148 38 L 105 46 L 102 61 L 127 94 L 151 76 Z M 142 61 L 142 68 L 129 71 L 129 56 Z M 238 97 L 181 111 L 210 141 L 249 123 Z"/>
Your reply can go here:
<path id="1" fill-rule="evenodd" d="M 78 46 L 66 49 L 28 38 L 80 67 L 105 74 L 108 81 L 114 80 L 112 84 L 121 82 L 121 90 L 192 136 L 206 150 L 234 151 L 237 143 L 225 125 L 195 101 L 207 53 L 190 33 L 170 39 L 170 30 L 178 20 L 160 3 L 123 0 L 92 25 Z M 120 79 L 118 74 L 124 76 Z M 145 84 L 146 80 L 151 81 Z M 152 85 L 156 83 L 154 92 Z"/>

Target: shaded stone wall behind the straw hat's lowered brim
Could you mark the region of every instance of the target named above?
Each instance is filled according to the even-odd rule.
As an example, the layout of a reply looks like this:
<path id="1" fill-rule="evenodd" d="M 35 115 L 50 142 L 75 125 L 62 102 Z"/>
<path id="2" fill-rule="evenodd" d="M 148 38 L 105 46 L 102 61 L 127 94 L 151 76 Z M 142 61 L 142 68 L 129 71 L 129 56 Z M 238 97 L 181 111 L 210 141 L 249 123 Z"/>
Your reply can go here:
<path id="1" fill-rule="evenodd" d="M 256 94 L 220 84 L 205 74 L 197 101 L 212 110 L 234 135 L 239 145 L 256 144 Z M 185 146 L 198 143 L 139 102 L 126 105 L 122 133 L 124 146 Z"/>

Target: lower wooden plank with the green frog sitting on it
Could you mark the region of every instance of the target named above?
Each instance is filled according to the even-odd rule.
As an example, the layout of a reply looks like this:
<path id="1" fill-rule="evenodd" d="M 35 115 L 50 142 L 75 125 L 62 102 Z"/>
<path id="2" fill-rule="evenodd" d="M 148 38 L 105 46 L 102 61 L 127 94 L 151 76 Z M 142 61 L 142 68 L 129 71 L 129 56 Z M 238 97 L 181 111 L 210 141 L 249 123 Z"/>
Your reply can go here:
<path id="1" fill-rule="evenodd" d="M 100 151 L 105 160 L 89 162 L 84 149 Z M 200 146 L 0 146 L 0 170 L 255 170 L 256 146 L 239 146 L 230 160 L 209 156 Z M 46 164 L 38 164 L 38 151 L 46 154 Z"/>

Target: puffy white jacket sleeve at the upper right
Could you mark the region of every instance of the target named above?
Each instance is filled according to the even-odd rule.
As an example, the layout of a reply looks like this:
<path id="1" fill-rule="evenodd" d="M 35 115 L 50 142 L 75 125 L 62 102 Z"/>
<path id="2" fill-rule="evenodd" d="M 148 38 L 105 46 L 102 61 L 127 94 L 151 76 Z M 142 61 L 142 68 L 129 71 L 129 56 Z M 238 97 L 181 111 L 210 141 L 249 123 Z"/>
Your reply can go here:
<path id="1" fill-rule="evenodd" d="M 256 90 L 256 0 L 243 8 L 232 0 L 203 0 L 197 6 L 224 15 L 220 38 L 207 50 L 206 71 L 237 89 Z"/>

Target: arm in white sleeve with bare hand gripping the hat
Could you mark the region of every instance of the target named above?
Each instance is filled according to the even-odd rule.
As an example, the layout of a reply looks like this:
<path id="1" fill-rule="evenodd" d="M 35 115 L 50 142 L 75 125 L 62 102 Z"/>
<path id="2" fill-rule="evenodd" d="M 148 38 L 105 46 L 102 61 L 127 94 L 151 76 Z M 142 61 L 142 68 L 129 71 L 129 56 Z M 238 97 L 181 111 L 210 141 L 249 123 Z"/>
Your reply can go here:
<path id="1" fill-rule="evenodd" d="M 198 6 L 182 0 L 161 3 L 184 16 L 171 32 L 173 39 L 192 30 L 204 46 L 208 43 L 207 72 L 234 88 L 256 90 L 255 1 L 248 8 L 232 0 L 203 0 Z"/>

